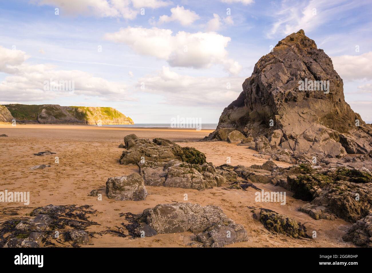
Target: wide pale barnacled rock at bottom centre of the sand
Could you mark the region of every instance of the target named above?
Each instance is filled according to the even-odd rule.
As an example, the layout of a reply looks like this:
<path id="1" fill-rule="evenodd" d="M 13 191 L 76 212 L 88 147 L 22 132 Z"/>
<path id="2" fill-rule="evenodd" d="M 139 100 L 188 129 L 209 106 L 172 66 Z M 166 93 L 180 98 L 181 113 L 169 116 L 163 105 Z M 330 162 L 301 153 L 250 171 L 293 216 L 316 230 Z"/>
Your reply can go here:
<path id="1" fill-rule="evenodd" d="M 135 215 L 139 227 L 136 230 L 147 236 L 156 233 L 180 233 L 190 231 L 196 234 L 196 240 L 205 246 L 222 247 L 227 244 L 247 241 L 247 231 L 242 225 L 235 224 L 221 208 L 199 204 L 174 203 L 160 204 L 145 209 L 142 214 Z M 130 228 L 130 227 L 129 227 Z"/>

